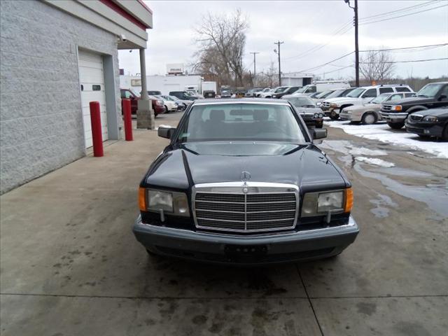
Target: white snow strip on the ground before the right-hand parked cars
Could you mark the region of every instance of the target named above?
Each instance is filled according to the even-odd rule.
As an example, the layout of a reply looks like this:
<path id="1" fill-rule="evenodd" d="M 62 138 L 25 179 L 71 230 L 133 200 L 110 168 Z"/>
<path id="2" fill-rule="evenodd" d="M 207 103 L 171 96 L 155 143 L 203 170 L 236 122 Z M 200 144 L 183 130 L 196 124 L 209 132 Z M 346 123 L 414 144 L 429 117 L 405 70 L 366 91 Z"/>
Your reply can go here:
<path id="1" fill-rule="evenodd" d="M 386 123 L 351 125 L 349 121 L 325 121 L 325 125 L 341 128 L 347 134 L 355 135 L 356 137 L 379 140 L 395 146 L 406 146 L 433 154 L 437 158 L 448 158 L 447 142 L 437 142 L 435 139 L 421 139 L 416 134 L 407 133 L 404 128 L 399 131 L 392 130 Z"/>

